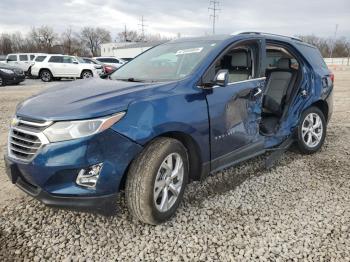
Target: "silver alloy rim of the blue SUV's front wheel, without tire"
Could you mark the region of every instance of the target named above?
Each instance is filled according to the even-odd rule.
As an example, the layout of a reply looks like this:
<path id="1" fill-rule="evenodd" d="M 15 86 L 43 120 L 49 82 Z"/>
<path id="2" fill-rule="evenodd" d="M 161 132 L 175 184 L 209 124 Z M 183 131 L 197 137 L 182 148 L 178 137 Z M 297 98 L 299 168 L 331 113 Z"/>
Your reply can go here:
<path id="1" fill-rule="evenodd" d="M 178 153 L 168 155 L 162 162 L 153 190 L 154 204 L 158 211 L 167 212 L 175 204 L 181 192 L 184 164 Z"/>

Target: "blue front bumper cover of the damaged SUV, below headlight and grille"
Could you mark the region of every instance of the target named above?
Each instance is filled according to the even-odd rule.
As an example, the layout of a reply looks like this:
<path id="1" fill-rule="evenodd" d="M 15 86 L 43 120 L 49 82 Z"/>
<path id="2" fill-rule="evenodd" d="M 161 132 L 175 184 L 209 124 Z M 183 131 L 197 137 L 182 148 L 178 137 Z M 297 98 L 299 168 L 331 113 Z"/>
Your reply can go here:
<path id="1" fill-rule="evenodd" d="M 29 163 L 5 155 L 12 183 L 48 206 L 105 212 L 142 147 L 112 129 L 90 138 L 45 145 Z M 75 183 L 79 170 L 103 163 L 96 188 Z"/>

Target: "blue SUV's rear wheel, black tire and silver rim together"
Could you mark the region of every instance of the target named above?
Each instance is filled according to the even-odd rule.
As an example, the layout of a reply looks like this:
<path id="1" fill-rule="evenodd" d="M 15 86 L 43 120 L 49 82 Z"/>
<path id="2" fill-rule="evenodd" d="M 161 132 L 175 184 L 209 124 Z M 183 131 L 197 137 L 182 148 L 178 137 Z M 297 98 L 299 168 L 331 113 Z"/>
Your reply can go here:
<path id="1" fill-rule="evenodd" d="M 302 154 L 313 154 L 320 150 L 327 133 L 326 119 L 318 107 L 306 109 L 297 129 L 298 148 Z"/>

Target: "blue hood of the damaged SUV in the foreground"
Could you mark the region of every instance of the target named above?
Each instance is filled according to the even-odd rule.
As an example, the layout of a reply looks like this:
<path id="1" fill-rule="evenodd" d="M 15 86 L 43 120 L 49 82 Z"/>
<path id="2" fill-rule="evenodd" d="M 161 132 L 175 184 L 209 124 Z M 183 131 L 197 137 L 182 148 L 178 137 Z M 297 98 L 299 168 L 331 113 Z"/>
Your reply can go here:
<path id="1" fill-rule="evenodd" d="M 114 114 L 135 101 L 166 93 L 175 82 L 136 83 L 99 78 L 59 84 L 23 101 L 16 115 L 37 120 L 88 119 Z"/>

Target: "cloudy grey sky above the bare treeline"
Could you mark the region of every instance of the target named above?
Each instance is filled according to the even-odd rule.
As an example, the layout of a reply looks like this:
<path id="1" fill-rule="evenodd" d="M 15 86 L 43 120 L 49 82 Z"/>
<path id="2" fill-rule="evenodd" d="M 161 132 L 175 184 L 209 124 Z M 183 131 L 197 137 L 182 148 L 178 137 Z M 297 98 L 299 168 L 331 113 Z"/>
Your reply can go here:
<path id="1" fill-rule="evenodd" d="M 57 32 L 100 26 L 116 37 L 138 30 L 167 37 L 212 34 L 209 0 L 1 0 L 0 33 L 49 25 Z M 350 0 L 220 0 L 217 34 L 262 31 L 284 35 L 314 34 L 350 40 Z"/>

